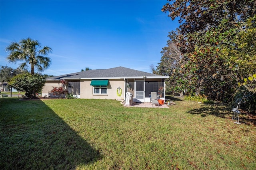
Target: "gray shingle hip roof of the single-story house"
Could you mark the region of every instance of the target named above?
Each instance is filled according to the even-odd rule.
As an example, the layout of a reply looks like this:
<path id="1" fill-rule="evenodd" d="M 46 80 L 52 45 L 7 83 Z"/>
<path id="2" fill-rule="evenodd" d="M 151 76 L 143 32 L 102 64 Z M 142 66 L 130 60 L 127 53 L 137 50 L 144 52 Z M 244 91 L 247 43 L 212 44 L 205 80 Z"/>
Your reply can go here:
<path id="1" fill-rule="evenodd" d="M 60 80 L 60 79 L 86 79 L 86 78 L 114 78 L 114 77 L 162 77 L 161 75 L 156 75 L 152 73 L 147 73 L 144 71 L 138 71 L 134 69 L 129 69 L 126 67 L 114 67 L 110 69 L 95 69 L 81 71 L 77 73 L 71 73 L 66 75 L 60 75 L 55 77 L 48 77 L 47 80 Z"/>

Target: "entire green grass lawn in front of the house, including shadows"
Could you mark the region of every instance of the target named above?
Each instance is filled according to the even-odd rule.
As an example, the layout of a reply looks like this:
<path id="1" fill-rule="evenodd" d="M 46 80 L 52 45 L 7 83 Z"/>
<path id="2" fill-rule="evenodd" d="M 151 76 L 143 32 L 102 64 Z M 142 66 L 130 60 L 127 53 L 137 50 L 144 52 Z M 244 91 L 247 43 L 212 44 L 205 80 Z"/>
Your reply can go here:
<path id="1" fill-rule="evenodd" d="M 256 169 L 256 127 L 225 105 L 0 99 L 0 169 Z"/>

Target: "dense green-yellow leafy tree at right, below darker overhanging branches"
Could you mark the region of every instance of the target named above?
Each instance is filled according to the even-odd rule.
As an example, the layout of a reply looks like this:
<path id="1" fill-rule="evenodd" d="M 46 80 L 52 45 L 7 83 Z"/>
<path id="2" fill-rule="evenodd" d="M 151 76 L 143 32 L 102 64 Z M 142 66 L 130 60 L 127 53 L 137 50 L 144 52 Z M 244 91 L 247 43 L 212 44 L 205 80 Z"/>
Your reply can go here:
<path id="1" fill-rule="evenodd" d="M 256 38 L 252 36 L 255 28 L 250 26 L 255 21 L 254 16 L 226 30 L 227 21 L 223 20 L 220 26 L 210 28 L 204 36 L 193 34 L 197 40 L 194 52 L 185 55 L 185 68 L 192 71 L 191 77 L 198 78 L 197 89 L 204 87 L 213 99 L 228 100 L 239 78 L 255 73 Z"/>

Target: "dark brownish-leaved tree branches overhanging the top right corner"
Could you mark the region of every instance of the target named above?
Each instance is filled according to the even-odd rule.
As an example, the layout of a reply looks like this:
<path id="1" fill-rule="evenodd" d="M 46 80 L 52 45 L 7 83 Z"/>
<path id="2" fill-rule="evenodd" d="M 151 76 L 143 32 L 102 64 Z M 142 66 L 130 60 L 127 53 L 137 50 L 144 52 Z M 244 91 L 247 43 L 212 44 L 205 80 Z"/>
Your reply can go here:
<path id="1" fill-rule="evenodd" d="M 162 12 L 174 20 L 179 19 L 180 50 L 182 53 L 194 51 L 194 39 L 189 35 L 204 34 L 209 28 L 216 28 L 223 19 L 228 20 L 227 30 L 238 22 L 244 22 L 256 14 L 255 0 L 168 0 Z M 200 36 L 199 34 L 199 36 Z M 189 42 L 188 42 L 189 41 Z"/>

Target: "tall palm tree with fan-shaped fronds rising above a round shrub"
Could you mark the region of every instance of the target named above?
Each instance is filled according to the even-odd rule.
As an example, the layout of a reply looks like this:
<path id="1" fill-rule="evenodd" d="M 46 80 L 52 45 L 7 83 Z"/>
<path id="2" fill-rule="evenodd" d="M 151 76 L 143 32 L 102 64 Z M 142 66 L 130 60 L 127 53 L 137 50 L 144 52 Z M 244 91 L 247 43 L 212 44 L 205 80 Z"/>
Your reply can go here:
<path id="1" fill-rule="evenodd" d="M 38 40 L 32 40 L 30 38 L 20 40 L 20 43 L 12 42 L 6 47 L 6 52 L 9 55 L 6 60 L 9 63 L 17 63 L 17 61 L 23 61 L 20 63 L 18 69 L 28 69 L 30 65 L 30 73 L 34 75 L 35 69 L 38 71 L 44 71 L 51 64 L 49 57 L 44 57 L 52 52 L 51 47 L 44 46 L 42 49 Z"/>

